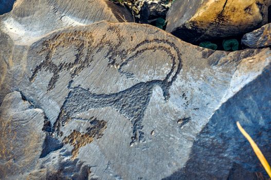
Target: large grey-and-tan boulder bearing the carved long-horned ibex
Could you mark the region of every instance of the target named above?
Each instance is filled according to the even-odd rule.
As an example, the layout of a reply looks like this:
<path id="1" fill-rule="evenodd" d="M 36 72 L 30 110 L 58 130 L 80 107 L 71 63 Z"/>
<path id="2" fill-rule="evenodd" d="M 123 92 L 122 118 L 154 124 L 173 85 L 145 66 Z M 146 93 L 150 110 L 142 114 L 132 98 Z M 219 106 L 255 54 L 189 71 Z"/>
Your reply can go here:
<path id="1" fill-rule="evenodd" d="M 44 140 L 27 178 L 257 178 L 237 120 L 271 161 L 269 48 L 213 51 L 135 23 L 65 28 L 31 45 L 1 37 L 2 108 L 12 113 L 4 97 L 20 91 L 46 115 L 29 130 Z"/>

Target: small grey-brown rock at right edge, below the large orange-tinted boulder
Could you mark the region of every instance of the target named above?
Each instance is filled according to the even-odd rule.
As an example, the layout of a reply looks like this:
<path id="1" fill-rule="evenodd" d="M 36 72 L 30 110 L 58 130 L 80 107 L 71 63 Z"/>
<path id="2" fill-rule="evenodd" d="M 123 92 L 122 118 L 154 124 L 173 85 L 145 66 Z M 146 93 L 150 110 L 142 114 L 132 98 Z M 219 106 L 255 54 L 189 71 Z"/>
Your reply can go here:
<path id="1" fill-rule="evenodd" d="M 260 29 L 246 33 L 242 44 L 248 48 L 263 48 L 271 46 L 271 24 L 266 24 Z"/>

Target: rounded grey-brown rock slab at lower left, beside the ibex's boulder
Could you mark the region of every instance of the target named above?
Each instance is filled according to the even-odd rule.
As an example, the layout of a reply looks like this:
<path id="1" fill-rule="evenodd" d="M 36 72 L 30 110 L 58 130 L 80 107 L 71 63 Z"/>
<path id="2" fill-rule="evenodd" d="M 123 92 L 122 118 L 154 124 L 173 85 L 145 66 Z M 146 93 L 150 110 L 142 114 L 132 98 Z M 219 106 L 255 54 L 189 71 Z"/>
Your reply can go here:
<path id="1" fill-rule="evenodd" d="M 45 139 L 44 120 L 43 111 L 19 92 L 6 95 L 0 106 L 0 179 L 23 179 L 34 169 Z"/>

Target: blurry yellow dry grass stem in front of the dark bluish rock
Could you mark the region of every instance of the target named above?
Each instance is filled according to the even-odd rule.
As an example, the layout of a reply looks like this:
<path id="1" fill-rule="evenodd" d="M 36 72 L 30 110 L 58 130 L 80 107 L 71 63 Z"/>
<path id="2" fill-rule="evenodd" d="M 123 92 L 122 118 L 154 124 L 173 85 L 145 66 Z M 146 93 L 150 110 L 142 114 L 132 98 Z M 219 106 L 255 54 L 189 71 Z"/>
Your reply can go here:
<path id="1" fill-rule="evenodd" d="M 241 131 L 241 133 L 245 136 L 245 138 L 248 140 L 248 142 L 250 143 L 252 149 L 254 150 L 255 154 L 257 155 L 257 157 L 259 158 L 259 160 L 261 161 L 264 169 L 266 170 L 267 174 L 269 175 L 269 177 L 271 177 L 271 168 L 267 162 L 267 160 L 265 159 L 263 153 L 261 152 L 261 150 L 258 148 L 258 146 L 256 145 L 256 143 L 254 142 L 254 140 L 249 136 L 249 134 L 247 134 L 247 132 L 242 128 L 241 124 L 239 123 L 239 121 L 236 122 L 237 123 L 237 127 L 238 129 Z"/>

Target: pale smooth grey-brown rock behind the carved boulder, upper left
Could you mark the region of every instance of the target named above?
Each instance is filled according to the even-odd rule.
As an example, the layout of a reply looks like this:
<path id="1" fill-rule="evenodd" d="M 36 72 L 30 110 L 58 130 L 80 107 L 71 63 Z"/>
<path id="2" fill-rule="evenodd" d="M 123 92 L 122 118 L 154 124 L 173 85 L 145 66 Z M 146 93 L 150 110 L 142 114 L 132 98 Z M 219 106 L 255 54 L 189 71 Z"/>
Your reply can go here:
<path id="1" fill-rule="evenodd" d="M 108 20 L 133 21 L 131 12 L 107 0 L 17 0 L 11 12 L 0 17 L 1 29 L 17 43 L 31 44 L 46 33 Z"/>

